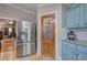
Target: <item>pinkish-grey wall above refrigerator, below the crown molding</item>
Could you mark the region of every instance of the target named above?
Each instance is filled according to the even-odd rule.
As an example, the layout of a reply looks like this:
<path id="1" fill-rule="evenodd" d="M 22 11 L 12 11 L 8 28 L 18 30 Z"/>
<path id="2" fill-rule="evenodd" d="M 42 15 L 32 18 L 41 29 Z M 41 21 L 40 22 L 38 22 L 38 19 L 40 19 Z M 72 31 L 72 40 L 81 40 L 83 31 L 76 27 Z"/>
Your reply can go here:
<path id="1" fill-rule="evenodd" d="M 35 20 L 34 14 L 23 12 L 21 10 L 11 8 L 2 3 L 0 3 L 0 18 L 1 17 L 20 19 L 20 20 L 32 21 L 32 22 Z"/>

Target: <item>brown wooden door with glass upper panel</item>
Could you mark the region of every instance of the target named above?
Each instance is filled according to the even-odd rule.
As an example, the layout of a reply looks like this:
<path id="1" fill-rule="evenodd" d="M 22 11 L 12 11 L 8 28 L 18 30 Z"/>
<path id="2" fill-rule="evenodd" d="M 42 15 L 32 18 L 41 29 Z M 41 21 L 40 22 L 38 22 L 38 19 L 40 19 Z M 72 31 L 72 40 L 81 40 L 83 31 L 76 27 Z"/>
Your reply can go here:
<path id="1" fill-rule="evenodd" d="M 55 56 L 55 13 L 41 17 L 41 53 Z"/>

